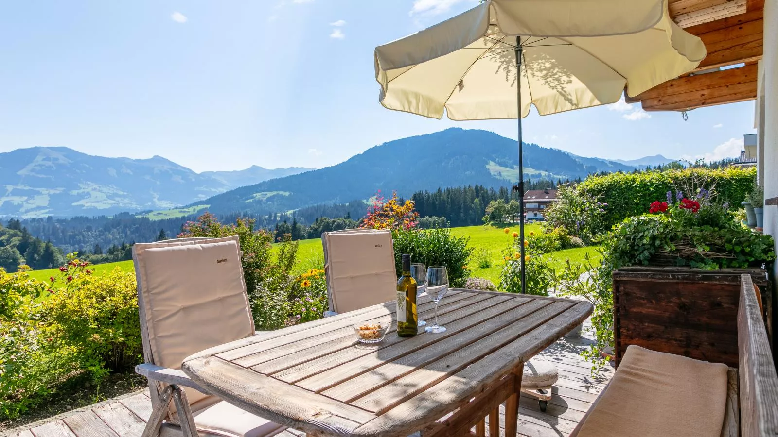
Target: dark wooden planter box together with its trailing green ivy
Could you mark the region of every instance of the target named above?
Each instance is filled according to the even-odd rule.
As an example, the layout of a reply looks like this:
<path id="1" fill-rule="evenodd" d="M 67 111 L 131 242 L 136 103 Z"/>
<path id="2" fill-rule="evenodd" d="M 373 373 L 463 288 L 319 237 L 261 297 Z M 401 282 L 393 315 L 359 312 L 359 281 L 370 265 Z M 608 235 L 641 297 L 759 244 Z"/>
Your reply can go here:
<path id="1" fill-rule="evenodd" d="M 743 226 L 715 198 L 704 189 L 688 197 L 679 191 L 675 202 L 654 201 L 648 214 L 626 218 L 605 238 L 601 270 L 612 269 L 617 364 L 629 344 L 639 344 L 737 365 L 741 274 L 769 290 L 762 265 L 775 252 L 771 236 Z"/>

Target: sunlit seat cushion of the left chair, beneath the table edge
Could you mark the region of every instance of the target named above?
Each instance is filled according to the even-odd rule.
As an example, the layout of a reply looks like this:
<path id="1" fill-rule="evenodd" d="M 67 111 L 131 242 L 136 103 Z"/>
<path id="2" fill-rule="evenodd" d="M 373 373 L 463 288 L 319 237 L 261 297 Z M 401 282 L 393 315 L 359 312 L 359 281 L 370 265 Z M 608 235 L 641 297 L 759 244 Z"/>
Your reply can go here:
<path id="1" fill-rule="evenodd" d="M 195 411 L 194 416 L 198 431 L 224 437 L 267 437 L 286 429 L 286 426 L 255 416 L 225 401 Z"/>

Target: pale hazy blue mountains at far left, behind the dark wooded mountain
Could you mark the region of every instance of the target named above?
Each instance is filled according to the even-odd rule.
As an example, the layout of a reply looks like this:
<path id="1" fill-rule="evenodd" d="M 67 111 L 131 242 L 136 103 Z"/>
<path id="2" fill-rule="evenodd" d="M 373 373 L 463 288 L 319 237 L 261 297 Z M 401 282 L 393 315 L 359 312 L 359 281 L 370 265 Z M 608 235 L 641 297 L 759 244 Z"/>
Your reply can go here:
<path id="1" fill-rule="evenodd" d="M 195 173 L 153 156 L 105 158 L 66 147 L 0 153 L 0 217 L 110 215 L 167 209 L 310 169 Z"/>

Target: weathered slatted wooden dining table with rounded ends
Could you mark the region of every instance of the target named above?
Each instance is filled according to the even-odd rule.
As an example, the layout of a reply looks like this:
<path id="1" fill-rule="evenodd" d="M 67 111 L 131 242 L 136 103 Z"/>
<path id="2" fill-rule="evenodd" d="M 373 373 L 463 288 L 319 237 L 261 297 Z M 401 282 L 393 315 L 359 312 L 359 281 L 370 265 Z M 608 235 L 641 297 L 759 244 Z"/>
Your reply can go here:
<path id="1" fill-rule="evenodd" d="M 398 337 L 395 302 L 300 323 L 210 348 L 184 372 L 245 411 L 309 435 L 517 434 L 524 362 L 582 323 L 591 303 L 452 288 L 440 301 L 447 330 Z M 433 302 L 419 297 L 419 318 Z M 390 323 L 363 344 L 355 323 Z M 454 412 L 453 414 L 451 414 Z M 445 417 L 445 418 L 444 418 Z M 444 419 L 443 419 L 444 418 Z M 495 432 L 497 434 L 495 434 Z"/>

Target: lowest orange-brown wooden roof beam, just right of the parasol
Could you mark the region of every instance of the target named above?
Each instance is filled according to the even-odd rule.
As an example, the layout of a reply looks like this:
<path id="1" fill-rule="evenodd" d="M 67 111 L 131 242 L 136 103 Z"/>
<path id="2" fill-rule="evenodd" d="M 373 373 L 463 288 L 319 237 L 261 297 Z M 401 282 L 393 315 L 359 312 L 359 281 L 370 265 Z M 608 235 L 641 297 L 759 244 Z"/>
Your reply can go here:
<path id="1" fill-rule="evenodd" d="M 690 75 L 640 95 L 643 110 L 691 110 L 756 98 L 756 65 Z"/>

